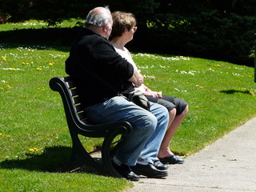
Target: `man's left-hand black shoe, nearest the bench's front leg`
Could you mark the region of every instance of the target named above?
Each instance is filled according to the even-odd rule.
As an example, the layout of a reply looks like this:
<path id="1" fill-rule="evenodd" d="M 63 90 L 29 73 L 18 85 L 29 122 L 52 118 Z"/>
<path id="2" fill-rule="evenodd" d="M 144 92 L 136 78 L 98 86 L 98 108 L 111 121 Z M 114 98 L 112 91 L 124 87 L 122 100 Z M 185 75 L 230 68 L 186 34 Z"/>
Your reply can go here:
<path id="1" fill-rule="evenodd" d="M 118 171 L 118 174 L 121 174 L 123 178 L 126 178 L 133 182 L 138 182 L 139 176 L 137 174 L 134 174 L 134 172 L 130 169 L 130 166 L 126 166 L 124 164 L 121 164 L 118 166 L 114 163 L 112 160 L 112 165 L 114 166 L 114 169 Z"/>

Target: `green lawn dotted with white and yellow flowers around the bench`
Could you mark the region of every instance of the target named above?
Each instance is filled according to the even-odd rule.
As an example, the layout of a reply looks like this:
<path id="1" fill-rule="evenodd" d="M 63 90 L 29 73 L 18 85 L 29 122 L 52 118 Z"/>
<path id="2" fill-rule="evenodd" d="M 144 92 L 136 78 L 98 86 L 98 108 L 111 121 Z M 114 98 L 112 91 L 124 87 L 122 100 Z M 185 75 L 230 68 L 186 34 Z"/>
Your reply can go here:
<path id="1" fill-rule="evenodd" d="M 13 30 L 10 24 L 2 29 Z M 48 82 L 66 76 L 68 51 L 56 44 L 0 44 L 0 191 L 124 191 L 132 186 L 118 178 L 57 172 L 70 157 L 71 140 L 60 95 Z M 194 154 L 256 115 L 253 68 L 172 55 L 133 57 L 147 86 L 189 102 L 189 114 L 170 146 L 177 154 Z M 101 142 L 82 140 L 90 149 Z"/>

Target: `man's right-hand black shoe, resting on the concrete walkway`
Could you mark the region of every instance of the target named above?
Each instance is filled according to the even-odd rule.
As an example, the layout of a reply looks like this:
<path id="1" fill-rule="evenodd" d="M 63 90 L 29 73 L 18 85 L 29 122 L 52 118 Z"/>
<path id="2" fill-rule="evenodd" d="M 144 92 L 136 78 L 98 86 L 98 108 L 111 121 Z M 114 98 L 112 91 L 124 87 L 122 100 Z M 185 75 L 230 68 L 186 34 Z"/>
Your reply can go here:
<path id="1" fill-rule="evenodd" d="M 142 174 L 148 178 L 164 178 L 168 176 L 166 170 L 158 170 L 152 163 L 147 165 L 136 164 L 130 167 L 135 174 Z"/>

